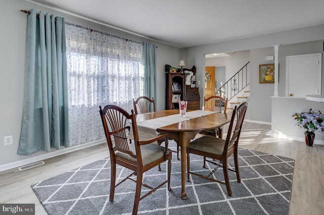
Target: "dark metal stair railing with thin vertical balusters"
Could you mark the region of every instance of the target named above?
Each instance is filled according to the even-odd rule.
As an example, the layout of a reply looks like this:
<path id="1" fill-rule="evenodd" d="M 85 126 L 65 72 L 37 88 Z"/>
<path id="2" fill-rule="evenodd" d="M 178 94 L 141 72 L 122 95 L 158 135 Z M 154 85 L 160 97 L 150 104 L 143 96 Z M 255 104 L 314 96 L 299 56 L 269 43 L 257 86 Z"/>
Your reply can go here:
<path id="1" fill-rule="evenodd" d="M 233 75 L 225 84 L 223 84 L 216 94 L 220 94 L 224 99 L 232 99 L 242 89 L 246 88 L 250 81 L 248 80 L 248 64 L 242 67 L 235 75 Z"/>

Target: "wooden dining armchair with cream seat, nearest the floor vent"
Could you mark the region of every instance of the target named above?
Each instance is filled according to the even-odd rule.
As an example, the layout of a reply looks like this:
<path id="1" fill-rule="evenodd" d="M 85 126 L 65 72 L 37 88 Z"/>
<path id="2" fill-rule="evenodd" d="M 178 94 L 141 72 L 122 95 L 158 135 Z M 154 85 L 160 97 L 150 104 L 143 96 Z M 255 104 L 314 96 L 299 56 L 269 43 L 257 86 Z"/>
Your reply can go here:
<path id="1" fill-rule="evenodd" d="M 168 190 L 171 190 L 170 176 L 172 152 L 168 149 L 168 135 L 158 135 L 147 140 L 139 140 L 136 116 L 133 110 L 132 114 L 129 115 L 124 109 L 121 109 L 116 105 L 107 105 L 103 109 L 101 109 L 100 106 L 99 112 L 110 153 L 111 178 L 109 201 L 113 201 L 114 199 L 115 187 L 123 183 L 125 180 L 130 179 L 136 182 L 133 214 L 137 214 L 139 201 L 144 197 L 153 193 L 156 189 L 166 183 L 168 183 Z M 130 144 L 131 139 L 128 138 L 129 128 L 133 129 L 134 134 L 134 143 L 132 144 Z M 165 142 L 165 147 L 158 145 L 158 140 Z M 143 184 L 143 174 L 153 167 L 164 163 L 166 160 L 168 160 L 168 179 L 156 188 Z M 118 184 L 115 184 L 116 164 L 134 171 Z M 133 175 L 137 175 L 136 180 L 131 178 Z M 142 185 L 150 189 L 150 191 L 141 197 Z M 121 202 L 121 204 L 124 203 Z"/>

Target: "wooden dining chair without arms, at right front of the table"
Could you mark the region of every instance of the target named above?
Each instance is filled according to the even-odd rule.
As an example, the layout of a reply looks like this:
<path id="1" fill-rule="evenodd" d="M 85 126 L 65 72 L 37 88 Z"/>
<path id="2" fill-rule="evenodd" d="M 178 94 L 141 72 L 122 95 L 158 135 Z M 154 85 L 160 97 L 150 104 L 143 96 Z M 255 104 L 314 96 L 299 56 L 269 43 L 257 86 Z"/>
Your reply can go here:
<path id="1" fill-rule="evenodd" d="M 205 135 L 198 139 L 193 140 L 187 147 L 187 181 L 189 181 L 189 174 L 199 176 L 201 178 L 209 179 L 221 184 L 226 185 L 227 193 L 232 196 L 232 191 L 229 183 L 228 170 L 236 173 L 237 182 L 240 183 L 239 170 L 238 170 L 238 140 L 241 133 L 242 124 L 248 108 L 248 103 L 241 103 L 238 108 L 235 106 L 231 121 L 228 127 L 226 140 Z M 236 119 L 235 119 L 236 118 Z M 217 164 L 212 159 L 207 159 L 207 162 L 216 165 L 216 168 L 211 171 L 208 176 L 197 174 L 196 172 L 190 172 L 190 153 L 209 157 L 219 160 Z M 235 170 L 228 168 L 227 159 L 233 154 Z M 204 168 L 206 168 L 206 162 L 204 160 Z M 214 179 L 213 174 L 219 168 L 223 168 L 225 182 Z"/>

